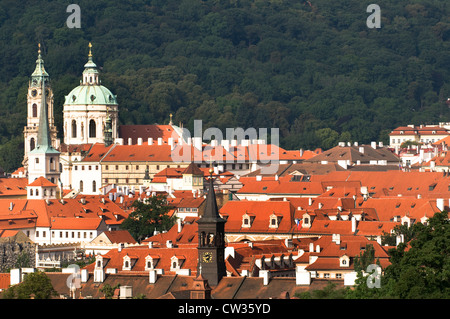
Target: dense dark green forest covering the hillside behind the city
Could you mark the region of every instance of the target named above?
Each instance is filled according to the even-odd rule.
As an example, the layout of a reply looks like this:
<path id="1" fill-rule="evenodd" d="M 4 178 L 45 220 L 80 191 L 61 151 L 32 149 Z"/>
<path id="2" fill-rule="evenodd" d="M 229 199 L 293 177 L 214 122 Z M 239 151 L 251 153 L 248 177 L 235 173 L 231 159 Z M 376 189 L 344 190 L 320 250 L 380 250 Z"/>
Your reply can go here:
<path id="1" fill-rule="evenodd" d="M 93 43 L 122 124 L 279 128 L 288 149 L 387 142 L 399 125 L 450 121 L 447 0 L 0 2 L 0 166 L 23 156 L 26 91 L 42 43 L 61 132 L 64 95 Z"/>

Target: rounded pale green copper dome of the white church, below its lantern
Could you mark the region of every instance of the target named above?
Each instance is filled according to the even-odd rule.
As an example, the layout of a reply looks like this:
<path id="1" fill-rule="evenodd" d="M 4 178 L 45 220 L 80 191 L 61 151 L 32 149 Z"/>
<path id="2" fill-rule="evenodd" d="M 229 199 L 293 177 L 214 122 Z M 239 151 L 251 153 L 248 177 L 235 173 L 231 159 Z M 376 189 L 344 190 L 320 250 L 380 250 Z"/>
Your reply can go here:
<path id="1" fill-rule="evenodd" d="M 117 105 L 117 99 L 103 85 L 79 85 L 65 97 L 65 105 Z"/>

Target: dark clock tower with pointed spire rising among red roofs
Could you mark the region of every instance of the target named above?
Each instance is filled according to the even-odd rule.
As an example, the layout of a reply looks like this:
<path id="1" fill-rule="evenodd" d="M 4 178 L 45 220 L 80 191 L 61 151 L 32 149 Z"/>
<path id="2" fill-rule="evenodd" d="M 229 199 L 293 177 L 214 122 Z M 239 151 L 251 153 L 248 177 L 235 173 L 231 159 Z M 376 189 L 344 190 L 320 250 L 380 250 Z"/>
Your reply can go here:
<path id="1" fill-rule="evenodd" d="M 198 273 L 216 286 L 226 276 L 225 267 L 225 222 L 217 208 L 212 171 L 209 176 L 209 190 L 206 207 L 198 223 Z"/>

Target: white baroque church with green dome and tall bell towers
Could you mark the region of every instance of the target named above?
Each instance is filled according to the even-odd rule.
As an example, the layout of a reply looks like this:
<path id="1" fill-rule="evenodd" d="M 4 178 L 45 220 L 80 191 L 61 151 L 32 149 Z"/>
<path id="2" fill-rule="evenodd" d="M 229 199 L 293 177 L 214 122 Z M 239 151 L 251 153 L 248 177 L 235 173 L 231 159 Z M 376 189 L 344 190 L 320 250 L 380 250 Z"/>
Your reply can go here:
<path id="1" fill-rule="evenodd" d="M 29 183 L 44 177 L 54 184 L 57 190 L 52 193 L 56 194 L 73 188 L 73 163 L 82 160 L 83 152 L 91 145 L 101 143 L 107 147 L 120 140 L 117 97 L 101 84 L 91 43 L 80 85 L 65 96 L 62 142 L 57 137 L 53 110 L 52 84 L 39 44 L 28 85 L 22 164 Z M 32 197 L 36 198 L 35 192 Z"/>

